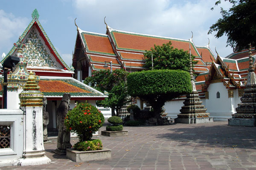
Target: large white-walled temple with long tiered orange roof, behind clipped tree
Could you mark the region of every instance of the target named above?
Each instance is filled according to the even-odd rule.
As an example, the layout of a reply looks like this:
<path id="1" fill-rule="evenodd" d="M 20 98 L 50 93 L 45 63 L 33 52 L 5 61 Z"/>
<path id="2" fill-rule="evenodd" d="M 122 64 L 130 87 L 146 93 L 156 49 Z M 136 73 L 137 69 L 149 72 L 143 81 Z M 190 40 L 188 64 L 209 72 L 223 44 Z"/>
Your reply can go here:
<path id="1" fill-rule="evenodd" d="M 140 71 L 143 68 L 144 52 L 155 45 L 172 42 L 177 49 L 189 51 L 198 61 L 194 66 L 195 85 L 203 105 L 213 118 L 227 119 L 235 113 L 235 108 L 240 103 L 244 84 L 247 79 L 249 68 L 248 50 L 233 52 L 227 58 L 215 57 L 206 46 L 197 46 L 189 39 L 177 39 L 172 37 L 161 37 L 146 35 L 135 32 L 126 32 L 113 29 L 106 24 L 106 34 L 87 32 L 77 25 L 77 37 L 75 51 L 73 54 L 74 78 L 83 81 L 90 76 L 94 70 L 126 69 L 128 72 Z M 253 48 L 253 63 L 255 63 L 256 51 Z M 172 117 L 177 117 L 183 106 L 185 96 L 166 102 L 164 108 Z M 143 108 L 143 101 L 139 98 L 134 101 Z M 145 106 L 145 105 L 144 105 Z"/>

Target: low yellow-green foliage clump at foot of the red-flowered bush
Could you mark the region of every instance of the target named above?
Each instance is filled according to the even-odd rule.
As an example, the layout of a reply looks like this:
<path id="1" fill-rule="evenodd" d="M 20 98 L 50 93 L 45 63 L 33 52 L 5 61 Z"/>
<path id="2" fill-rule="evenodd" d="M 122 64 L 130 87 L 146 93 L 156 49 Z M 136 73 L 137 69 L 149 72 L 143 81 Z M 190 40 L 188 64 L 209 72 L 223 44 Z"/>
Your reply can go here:
<path id="1" fill-rule="evenodd" d="M 102 141 L 99 139 L 93 139 L 90 141 L 80 141 L 74 144 L 75 150 L 87 151 L 87 150 L 102 150 Z"/>

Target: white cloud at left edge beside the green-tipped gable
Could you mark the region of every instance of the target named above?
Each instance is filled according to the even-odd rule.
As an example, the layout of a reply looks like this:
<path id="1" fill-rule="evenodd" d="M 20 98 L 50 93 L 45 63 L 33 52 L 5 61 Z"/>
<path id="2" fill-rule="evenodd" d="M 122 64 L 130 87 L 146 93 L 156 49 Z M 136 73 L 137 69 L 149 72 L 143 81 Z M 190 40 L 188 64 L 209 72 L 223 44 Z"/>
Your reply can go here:
<path id="1" fill-rule="evenodd" d="M 29 23 L 26 17 L 15 17 L 12 13 L 6 13 L 0 9 L 0 55 L 9 52 L 13 43 L 23 33 Z"/>

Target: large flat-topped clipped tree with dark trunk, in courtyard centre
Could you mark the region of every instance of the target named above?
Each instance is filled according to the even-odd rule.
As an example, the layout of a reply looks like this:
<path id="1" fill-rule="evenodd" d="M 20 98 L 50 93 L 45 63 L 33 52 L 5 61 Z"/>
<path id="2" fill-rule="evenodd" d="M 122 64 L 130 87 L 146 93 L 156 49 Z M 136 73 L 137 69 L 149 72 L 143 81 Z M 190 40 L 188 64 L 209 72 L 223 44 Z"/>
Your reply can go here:
<path id="1" fill-rule="evenodd" d="M 128 93 L 138 96 L 154 109 L 154 116 L 160 117 L 166 101 L 192 92 L 189 72 L 182 70 L 148 70 L 133 72 L 127 77 Z"/>

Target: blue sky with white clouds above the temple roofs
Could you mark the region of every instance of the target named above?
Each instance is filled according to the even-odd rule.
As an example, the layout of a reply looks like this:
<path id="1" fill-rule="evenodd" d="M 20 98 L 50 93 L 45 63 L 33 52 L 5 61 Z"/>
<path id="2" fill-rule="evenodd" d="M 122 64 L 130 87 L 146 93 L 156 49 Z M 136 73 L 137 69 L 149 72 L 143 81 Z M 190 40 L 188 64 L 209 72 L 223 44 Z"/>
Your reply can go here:
<path id="1" fill-rule="evenodd" d="M 227 37 L 208 35 L 209 27 L 221 18 L 216 0 L 0 0 L 0 58 L 7 54 L 38 10 L 39 22 L 53 46 L 68 66 L 76 43 L 76 26 L 88 32 L 105 34 L 106 23 L 113 29 L 189 39 L 193 32 L 196 46 L 208 44 L 221 57 L 233 52 Z M 211 8 L 214 7 L 214 10 Z M 227 47 L 226 47 L 227 46 Z"/>

